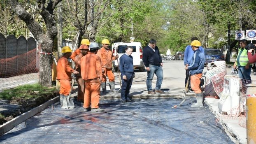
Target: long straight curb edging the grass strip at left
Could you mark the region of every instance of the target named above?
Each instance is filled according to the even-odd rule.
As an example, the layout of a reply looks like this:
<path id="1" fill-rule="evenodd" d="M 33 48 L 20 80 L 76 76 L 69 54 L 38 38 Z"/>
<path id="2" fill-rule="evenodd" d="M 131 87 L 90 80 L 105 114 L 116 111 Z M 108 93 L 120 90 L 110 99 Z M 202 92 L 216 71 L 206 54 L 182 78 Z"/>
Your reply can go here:
<path id="1" fill-rule="evenodd" d="M 28 118 L 35 116 L 36 114 L 38 114 L 39 112 L 47 108 L 49 105 L 56 103 L 59 99 L 60 97 L 57 96 L 47 102 L 44 102 L 42 105 L 31 109 L 30 111 L 27 111 L 19 116 L 16 116 L 11 121 L 7 121 L 6 123 L 0 126 L 0 135 L 3 135 L 5 132 L 8 132 L 12 128 L 14 128 L 16 125 L 19 125 L 23 121 L 26 121 Z"/>

